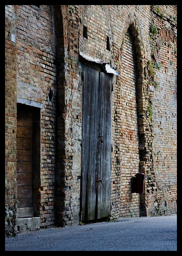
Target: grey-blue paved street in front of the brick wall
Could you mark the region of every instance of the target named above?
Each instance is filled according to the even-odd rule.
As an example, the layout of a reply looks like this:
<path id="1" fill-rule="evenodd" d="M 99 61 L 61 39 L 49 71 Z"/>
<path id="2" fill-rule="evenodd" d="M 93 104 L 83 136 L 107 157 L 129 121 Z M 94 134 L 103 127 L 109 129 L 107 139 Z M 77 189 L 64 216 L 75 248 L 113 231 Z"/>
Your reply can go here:
<path id="1" fill-rule="evenodd" d="M 176 251 L 177 216 L 120 218 L 5 239 L 6 251 Z"/>

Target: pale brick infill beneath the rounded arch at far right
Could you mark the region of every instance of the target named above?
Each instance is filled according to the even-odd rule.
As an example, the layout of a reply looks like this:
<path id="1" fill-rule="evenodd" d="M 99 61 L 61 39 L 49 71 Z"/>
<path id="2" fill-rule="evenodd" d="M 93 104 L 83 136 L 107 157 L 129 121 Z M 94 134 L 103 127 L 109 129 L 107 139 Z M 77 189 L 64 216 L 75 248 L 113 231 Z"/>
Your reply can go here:
<path id="1" fill-rule="evenodd" d="M 160 84 L 153 95 L 154 169 L 157 179 L 156 202 L 160 211 L 176 211 L 176 56 L 174 44 L 160 48 L 155 79 Z M 173 196 L 171 196 L 173 194 Z M 159 210 L 158 210 L 159 211 Z"/>

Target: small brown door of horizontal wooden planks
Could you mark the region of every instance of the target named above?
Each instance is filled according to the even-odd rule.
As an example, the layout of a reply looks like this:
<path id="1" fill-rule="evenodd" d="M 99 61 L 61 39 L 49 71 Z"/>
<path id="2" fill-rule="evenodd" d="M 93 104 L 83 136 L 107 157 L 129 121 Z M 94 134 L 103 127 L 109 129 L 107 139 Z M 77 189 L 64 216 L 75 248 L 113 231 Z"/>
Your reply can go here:
<path id="1" fill-rule="evenodd" d="M 18 208 L 32 207 L 32 128 L 33 112 L 17 109 L 17 199 Z"/>

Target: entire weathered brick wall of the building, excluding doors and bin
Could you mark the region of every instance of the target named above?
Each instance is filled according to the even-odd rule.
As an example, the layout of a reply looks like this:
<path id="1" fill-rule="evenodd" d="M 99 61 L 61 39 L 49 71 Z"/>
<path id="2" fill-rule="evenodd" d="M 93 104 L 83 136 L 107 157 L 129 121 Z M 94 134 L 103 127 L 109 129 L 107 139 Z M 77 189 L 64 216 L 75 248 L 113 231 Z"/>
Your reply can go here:
<path id="1" fill-rule="evenodd" d="M 8 232 L 16 233 L 10 230 L 16 227 L 17 99 L 41 106 L 41 226 L 79 224 L 79 52 L 119 72 L 112 78 L 110 218 L 176 212 L 176 22 L 176 6 L 6 6 L 7 223 L 14 215 Z M 141 195 L 131 193 L 137 172 L 146 176 Z"/>

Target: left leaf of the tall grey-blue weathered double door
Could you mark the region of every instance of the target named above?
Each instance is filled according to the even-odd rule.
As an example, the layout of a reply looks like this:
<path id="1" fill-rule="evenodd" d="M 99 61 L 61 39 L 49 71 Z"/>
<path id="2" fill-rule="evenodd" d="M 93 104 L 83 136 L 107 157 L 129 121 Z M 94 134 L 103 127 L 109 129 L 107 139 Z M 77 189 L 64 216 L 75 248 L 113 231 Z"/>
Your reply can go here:
<path id="1" fill-rule="evenodd" d="M 82 219 L 95 219 L 99 72 L 83 65 Z"/>

